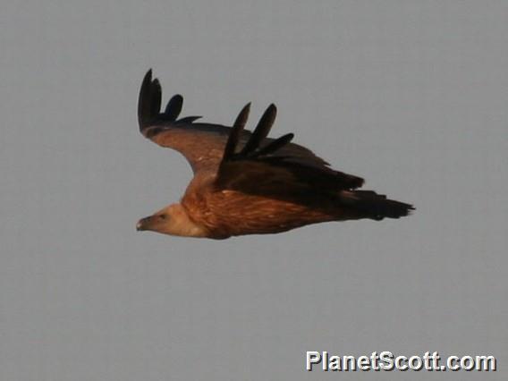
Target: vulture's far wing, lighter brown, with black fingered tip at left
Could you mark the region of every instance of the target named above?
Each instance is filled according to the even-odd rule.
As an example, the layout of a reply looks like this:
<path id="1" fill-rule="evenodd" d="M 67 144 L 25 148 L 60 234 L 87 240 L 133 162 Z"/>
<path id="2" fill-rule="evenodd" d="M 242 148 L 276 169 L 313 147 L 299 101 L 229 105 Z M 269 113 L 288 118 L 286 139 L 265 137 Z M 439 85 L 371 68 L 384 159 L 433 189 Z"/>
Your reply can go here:
<path id="1" fill-rule="evenodd" d="M 189 161 L 194 173 L 202 170 L 216 171 L 221 163 L 226 140 L 231 127 L 222 124 L 196 123 L 199 116 L 178 119 L 182 111 L 183 97 L 172 97 L 161 112 L 162 89 L 157 79 L 152 80 L 149 70 L 142 81 L 138 102 L 138 120 L 141 133 L 158 145 L 174 148 Z M 250 138 L 250 131 L 241 130 L 236 144 L 243 147 Z M 266 138 L 263 143 L 272 141 Z M 327 163 L 309 149 L 297 144 L 280 148 L 284 155 L 301 160 L 308 165 L 326 168 Z"/>

